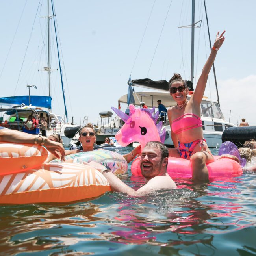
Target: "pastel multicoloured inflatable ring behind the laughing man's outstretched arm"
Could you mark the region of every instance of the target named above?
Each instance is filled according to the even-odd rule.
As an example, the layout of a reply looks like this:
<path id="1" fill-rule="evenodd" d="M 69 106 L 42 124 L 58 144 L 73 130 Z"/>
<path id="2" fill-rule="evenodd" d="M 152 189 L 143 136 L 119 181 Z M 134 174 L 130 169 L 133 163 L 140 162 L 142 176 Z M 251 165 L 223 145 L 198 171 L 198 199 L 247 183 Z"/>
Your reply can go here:
<path id="1" fill-rule="evenodd" d="M 73 163 L 83 163 L 95 161 L 102 165 L 108 166 L 115 175 L 122 175 L 128 170 L 128 163 L 124 157 L 117 152 L 109 150 L 93 150 L 89 152 L 79 152 L 76 154 L 65 156 L 65 159 L 73 159 Z M 51 163 L 60 162 L 59 159 L 51 161 Z"/>

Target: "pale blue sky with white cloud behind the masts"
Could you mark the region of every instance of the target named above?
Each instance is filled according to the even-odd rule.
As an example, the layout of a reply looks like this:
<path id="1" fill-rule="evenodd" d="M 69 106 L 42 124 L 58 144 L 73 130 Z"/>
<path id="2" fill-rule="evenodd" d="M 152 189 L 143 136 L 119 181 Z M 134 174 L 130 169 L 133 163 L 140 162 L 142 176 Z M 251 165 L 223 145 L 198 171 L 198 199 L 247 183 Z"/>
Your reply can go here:
<path id="1" fill-rule="evenodd" d="M 202 19 L 195 29 L 196 83 L 210 45 L 204 2 L 195 2 L 195 22 Z M 54 0 L 54 7 L 69 121 L 97 124 L 98 114 L 127 93 L 130 75 L 169 81 L 177 72 L 190 80 L 191 28 L 179 27 L 191 24 L 191 0 Z M 256 125 L 256 1 L 206 0 L 206 8 L 211 44 L 226 30 L 215 59 L 221 110 L 227 121 L 243 117 Z M 44 16 L 46 0 L 0 1 L 0 97 L 28 95 L 27 84 L 38 88 L 31 95 L 48 96 Z M 52 111 L 64 115 L 54 39 L 51 52 Z M 204 95 L 217 100 L 212 71 Z"/>

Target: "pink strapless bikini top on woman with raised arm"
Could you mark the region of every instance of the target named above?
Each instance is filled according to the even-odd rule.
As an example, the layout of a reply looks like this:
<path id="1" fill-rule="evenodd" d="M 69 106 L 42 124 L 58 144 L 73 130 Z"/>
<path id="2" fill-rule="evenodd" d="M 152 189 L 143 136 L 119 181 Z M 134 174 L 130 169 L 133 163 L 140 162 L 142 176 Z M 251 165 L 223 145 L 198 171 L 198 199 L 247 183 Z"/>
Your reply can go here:
<path id="1" fill-rule="evenodd" d="M 185 117 L 187 115 L 190 115 L 190 117 Z M 185 132 L 187 130 L 202 126 L 202 120 L 200 119 L 200 117 L 192 113 L 186 113 L 181 117 L 178 117 L 173 120 L 171 129 L 174 132 L 174 134 L 179 134 L 181 132 Z"/>

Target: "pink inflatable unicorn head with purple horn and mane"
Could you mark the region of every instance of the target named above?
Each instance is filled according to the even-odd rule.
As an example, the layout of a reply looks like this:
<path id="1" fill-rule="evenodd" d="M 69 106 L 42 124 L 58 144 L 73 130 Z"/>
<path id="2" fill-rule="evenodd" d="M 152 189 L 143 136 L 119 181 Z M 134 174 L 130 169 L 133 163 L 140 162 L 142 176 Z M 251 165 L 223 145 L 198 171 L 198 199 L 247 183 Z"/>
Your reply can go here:
<path id="1" fill-rule="evenodd" d="M 137 141 L 143 149 L 148 141 L 165 141 L 165 129 L 161 131 L 162 122 L 156 124 L 159 112 L 154 115 L 155 108 L 135 108 L 134 105 L 129 105 L 130 116 L 117 108 L 111 109 L 125 122 L 115 135 L 117 142 L 123 147 Z"/>

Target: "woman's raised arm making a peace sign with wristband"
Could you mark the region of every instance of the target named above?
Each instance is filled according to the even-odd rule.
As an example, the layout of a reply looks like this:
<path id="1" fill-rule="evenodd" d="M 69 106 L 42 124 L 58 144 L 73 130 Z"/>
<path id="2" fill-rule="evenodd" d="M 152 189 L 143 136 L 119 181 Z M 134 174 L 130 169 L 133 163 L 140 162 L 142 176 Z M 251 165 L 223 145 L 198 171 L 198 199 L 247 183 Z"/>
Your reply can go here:
<path id="1" fill-rule="evenodd" d="M 195 92 L 191 96 L 190 101 L 193 102 L 193 104 L 199 105 L 202 101 L 202 98 L 204 96 L 205 87 L 206 87 L 206 82 L 208 79 L 208 74 L 211 70 L 213 62 L 217 55 L 217 51 L 219 50 L 219 48 L 221 47 L 221 45 L 223 44 L 223 42 L 225 40 L 225 37 L 223 36 L 225 32 L 226 31 L 224 30 L 220 36 L 219 36 L 219 32 L 216 35 L 216 39 L 213 44 L 213 48 L 211 50 L 210 56 L 207 59 L 205 65 L 203 67 L 202 74 L 200 75 L 200 78 L 198 79 L 198 82 L 197 82 L 197 86 L 195 88 Z"/>

